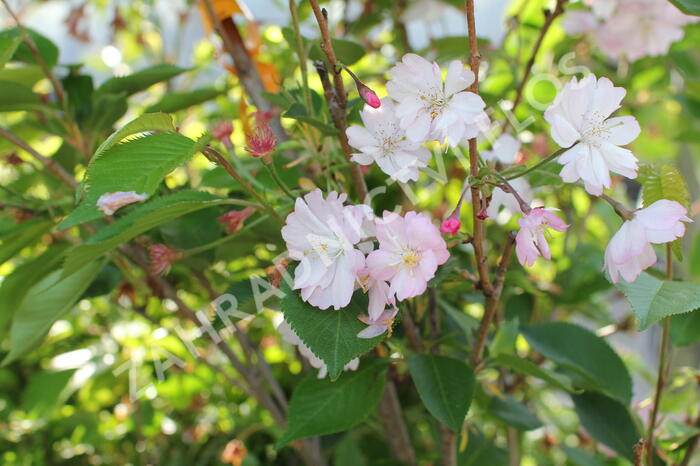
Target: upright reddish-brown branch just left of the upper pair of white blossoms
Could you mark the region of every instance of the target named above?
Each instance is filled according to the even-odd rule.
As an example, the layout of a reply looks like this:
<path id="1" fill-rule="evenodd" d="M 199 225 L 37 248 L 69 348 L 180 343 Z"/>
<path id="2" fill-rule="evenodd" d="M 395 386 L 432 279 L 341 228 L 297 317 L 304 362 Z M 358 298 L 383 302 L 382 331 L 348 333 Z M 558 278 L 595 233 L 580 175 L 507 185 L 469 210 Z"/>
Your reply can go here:
<path id="1" fill-rule="evenodd" d="M 333 50 L 333 45 L 331 44 L 331 37 L 330 33 L 328 32 L 328 20 L 324 14 L 325 10 L 321 11 L 321 7 L 318 5 L 318 0 L 309 1 L 314 12 L 314 16 L 316 16 L 318 27 L 321 31 L 321 50 L 323 50 L 323 53 L 326 55 L 328 64 L 331 67 L 330 73 L 333 75 L 332 88 L 329 85 L 330 82 L 328 81 L 326 75 L 327 70 L 325 70 L 325 66 L 317 63 L 316 69 L 319 72 L 319 76 L 321 77 L 321 82 L 324 87 L 324 95 L 328 104 L 328 111 L 333 119 L 333 124 L 339 131 L 338 139 L 340 141 L 340 147 L 343 150 L 343 155 L 345 156 L 345 160 L 352 162 L 352 148 L 348 143 L 348 136 L 345 133 L 345 130 L 348 127 L 347 115 L 345 113 L 348 98 L 347 94 L 345 93 L 345 86 L 343 85 L 343 77 L 341 75 L 342 69 L 338 65 L 338 60 L 335 57 L 335 51 Z M 326 75 L 325 82 L 324 75 Z M 362 171 L 360 170 L 360 166 L 358 164 L 353 163 L 350 166 L 350 177 L 352 178 L 352 183 L 355 186 L 357 197 L 360 199 L 360 202 L 364 202 L 365 198 L 367 197 L 367 185 L 365 184 L 365 179 L 362 176 Z"/>

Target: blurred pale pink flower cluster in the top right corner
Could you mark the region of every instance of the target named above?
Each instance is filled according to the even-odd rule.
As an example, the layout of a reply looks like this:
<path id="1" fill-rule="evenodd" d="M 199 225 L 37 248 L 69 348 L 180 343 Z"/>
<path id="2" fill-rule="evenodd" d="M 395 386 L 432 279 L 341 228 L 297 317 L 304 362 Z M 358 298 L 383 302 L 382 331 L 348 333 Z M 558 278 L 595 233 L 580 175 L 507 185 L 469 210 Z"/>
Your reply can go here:
<path id="1" fill-rule="evenodd" d="M 697 18 L 658 0 L 587 0 L 592 12 L 575 10 L 564 18 L 569 34 L 587 34 L 610 58 L 629 61 L 668 53 L 683 38 L 683 26 Z"/>

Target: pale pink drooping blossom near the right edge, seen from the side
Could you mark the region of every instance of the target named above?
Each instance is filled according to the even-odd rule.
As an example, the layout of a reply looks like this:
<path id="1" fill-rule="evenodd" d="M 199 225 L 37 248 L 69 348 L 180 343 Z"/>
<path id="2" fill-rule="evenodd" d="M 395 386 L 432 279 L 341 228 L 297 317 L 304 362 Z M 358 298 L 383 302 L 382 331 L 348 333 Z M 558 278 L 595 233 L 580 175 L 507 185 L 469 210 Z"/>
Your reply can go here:
<path id="1" fill-rule="evenodd" d="M 661 199 L 637 211 L 622 224 L 605 249 L 605 265 L 613 283 L 622 275 L 628 282 L 656 263 L 651 244 L 668 243 L 685 234 L 685 223 L 692 222 L 687 210 L 676 201 Z"/>

